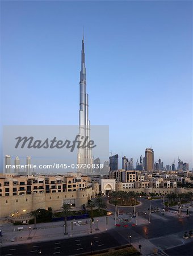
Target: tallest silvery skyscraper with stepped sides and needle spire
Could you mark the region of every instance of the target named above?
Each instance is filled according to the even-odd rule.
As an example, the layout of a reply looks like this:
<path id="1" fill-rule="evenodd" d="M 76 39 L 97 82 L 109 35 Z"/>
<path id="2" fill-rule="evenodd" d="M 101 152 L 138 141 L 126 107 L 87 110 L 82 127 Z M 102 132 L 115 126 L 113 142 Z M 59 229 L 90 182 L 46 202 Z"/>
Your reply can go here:
<path id="1" fill-rule="evenodd" d="M 82 38 L 82 58 L 79 82 L 79 135 L 90 141 L 90 120 L 89 120 L 89 95 L 86 93 L 86 67 L 85 67 L 85 42 Z M 78 149 L 78 171 L 86 174 L 92 172 L 92 151 L 91 148 Z"/>

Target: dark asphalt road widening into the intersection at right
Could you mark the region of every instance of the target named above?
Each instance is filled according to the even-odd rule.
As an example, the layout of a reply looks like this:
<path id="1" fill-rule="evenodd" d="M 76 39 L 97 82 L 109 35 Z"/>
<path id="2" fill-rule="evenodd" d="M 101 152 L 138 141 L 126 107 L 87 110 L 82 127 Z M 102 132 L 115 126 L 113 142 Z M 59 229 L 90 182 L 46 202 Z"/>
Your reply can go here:
<path id="1" fill-rule="evenodd" d="M 162 200 L 149 201 L 141 199 L 141 205 L 136 207 L 137 212 L 144 214 L 150 207 L 163 208 Z M 110 205 L 109 210 L 114 211 L 115 207 Z M 121 208 L 126 212 L 133 208 Z M 1 255 L 74 255 L 89 253 L 94 250 L 107 249 L 109 247 L 128 244 L 128 237 L 131 236 L 131 243 L 138 246 L 143 242 L 143 247 L 157 246 L 160 249 L 167 249 L 168 255 L 191 255 L 192 245 L 187 241 L 183 245 L 183 233 L 193 229 L 193 216 L 186 218 L 176 218 L 164 216 L 161 212 L 151 214 L 150 224 L 147 222 L 139 226 L 130 226 L 129 228 L 114 228 L 104 233 L 93 234 L 90 236 L 70 238 L 68 240 L 57 240 L 49 242 L 28 243 L 23 245 L 14 245 L 1 248 Z M 191 240 L 192 241 L 192 240 Z M 93 245 L 91 245 L 93 243 Z M 178 246 L 181 245 L 181 246 Z M 178 247 L 175 247 L 178 246 Z M 173 247 L 172 249 L 169 249 Z M 40 253 L 41 251 L 41 253 Z M 149 253 L 149 252 L 148 252 Z M 149 254 L 146 254 L 149 255 Z"/>

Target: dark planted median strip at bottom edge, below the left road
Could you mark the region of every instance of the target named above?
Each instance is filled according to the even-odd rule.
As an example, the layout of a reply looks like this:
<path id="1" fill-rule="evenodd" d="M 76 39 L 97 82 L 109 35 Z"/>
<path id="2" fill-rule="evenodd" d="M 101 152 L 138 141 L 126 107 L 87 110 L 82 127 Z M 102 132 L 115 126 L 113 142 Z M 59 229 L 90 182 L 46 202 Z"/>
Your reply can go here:
<path id="1" fill-rule="evenodd" d="M 79 256 L 83 255 L 95 255 L 95 256 L 118 256 L 118 255 L 130 255 L 130 256 L 135 256 L 135 255 L 141 255 L 139 251 L 137 251 L 133 246 L 131 245 L 122 245 L 118 247 L 112 247 L 110 249 L 106 250 L 99 250 L 99 251 L 93 251 L 92 253 L 83 253 L 83 254 L 78 254 Z"/>

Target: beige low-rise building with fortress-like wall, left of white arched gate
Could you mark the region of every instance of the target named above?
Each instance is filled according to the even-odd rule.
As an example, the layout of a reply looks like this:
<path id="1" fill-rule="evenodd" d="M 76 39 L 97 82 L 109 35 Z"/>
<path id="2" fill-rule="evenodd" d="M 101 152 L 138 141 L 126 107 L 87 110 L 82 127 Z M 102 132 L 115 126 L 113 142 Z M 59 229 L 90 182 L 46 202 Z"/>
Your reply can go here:
<path id="1" fill-rule="evenodd" d="M 0 175 L 0 217 L 14 212 L 52 207 L 61 209 L 64 203 L 81 207 L 96 194 L 95 186 L 86 175 L 68 173 L 57 176 Z"/>

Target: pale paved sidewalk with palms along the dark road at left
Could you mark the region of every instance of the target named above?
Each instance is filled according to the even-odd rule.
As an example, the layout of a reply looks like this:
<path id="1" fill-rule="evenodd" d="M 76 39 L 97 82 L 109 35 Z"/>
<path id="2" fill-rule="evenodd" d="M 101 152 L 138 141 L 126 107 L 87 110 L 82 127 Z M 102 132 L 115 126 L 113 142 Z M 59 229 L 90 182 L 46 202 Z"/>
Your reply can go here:
<path id="1" fill-rule="evenodd" d="M 82 221 L 81 224 L 78 221 Z M 72 225 L 71 222 L 74 222 Z M 86 223 L 87 222 L 87 223 Z M 96 222 L 98 222 L 96 224 Z M 31 226 L 31 233 L 29 226 Z M 72 230 L 70 228 L 72 226 Z M 98 229 L 97 229 L 98 226 Z M 18 228 L 23 228 L 18 230 Z M 2 237 L 0 238 L 1 246 L 18 245 L 22 243 L 32 243 L 40 241 L 51 241 L 67 239 L 70 237 L 87 236 L 92 231 L 92 234 L 101 233 L 106 229 L 115 228 L 114 216 L 99 217 L 98 221 L 94 218 L 94 224 L 90 225 L 90 218 L 84 220 L 68 221 L 68 234 L 64 235 L 65 227 L 64 222 L 48 222 L 36 224 L 37 229 L 33 229 L 34 225 L 18 225 L 14 226 L 10 223 L 3 224 L 0 229 L 2 230 Z M 31 237 L 31 238 L 30 238 Z"/>

